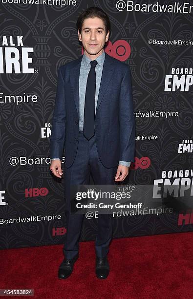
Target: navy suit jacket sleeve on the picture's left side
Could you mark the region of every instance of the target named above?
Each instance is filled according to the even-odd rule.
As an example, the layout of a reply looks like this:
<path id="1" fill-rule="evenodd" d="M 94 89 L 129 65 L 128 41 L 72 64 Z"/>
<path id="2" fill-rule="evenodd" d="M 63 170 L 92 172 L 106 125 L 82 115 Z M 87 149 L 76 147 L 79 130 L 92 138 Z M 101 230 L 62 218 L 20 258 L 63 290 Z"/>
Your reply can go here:
<path id="1" fill-rule="evenodd" d="M 50 136 L 50 158 L 62 159 L 65 140 L 65 93 L 64 78 L 61 67 L 58 69 L 58 83 L 56 91 L 56 99 L 54 113 L 52 118 L 51 136 Z"/>

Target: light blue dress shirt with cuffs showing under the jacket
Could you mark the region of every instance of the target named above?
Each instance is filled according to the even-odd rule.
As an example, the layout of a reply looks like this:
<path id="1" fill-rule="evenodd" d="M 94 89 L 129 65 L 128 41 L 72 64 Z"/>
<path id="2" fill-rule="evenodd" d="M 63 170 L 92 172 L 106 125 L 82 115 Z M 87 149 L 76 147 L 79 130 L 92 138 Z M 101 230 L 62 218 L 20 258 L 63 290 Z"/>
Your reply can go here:
<path id="1" fill-rule="evenodd" d="M 105 51 L 103 50 L 102 54 L 96 58 L 97 65 L 95 67 L 96 72 L 96 93 L 95 93 L 95 113 L 97 107 L 97 100 L 99 94 L 99 87 L 101 83 L 101 76 L 103 72 L 103 64 L 105 60 Z M 80 76 L 79 76 L 79 130 L 83 131 L 84 127 L 84 107 L 85 107 L 85 94 L 86 94 L 86 82 L 88 73 L 90 71 L 90 61 L 91 59 L 86 56 L 84 53 L 83 59 L 81 62 Z M 60 160 L 59 158 L 53 158 L 52 160 Z M 130 162 L 119 161 L 119 164 L 124 166 L 130 166 Z"/>

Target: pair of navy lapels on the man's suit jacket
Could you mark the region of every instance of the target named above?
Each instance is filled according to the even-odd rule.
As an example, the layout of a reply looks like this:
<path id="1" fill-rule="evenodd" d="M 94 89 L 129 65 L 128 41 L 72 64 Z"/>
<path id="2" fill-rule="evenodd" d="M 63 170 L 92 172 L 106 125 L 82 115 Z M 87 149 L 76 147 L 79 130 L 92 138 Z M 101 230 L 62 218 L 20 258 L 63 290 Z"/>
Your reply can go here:
<path id="1" fill-rule="evenodd" d="M 79 116 L 79 76 L 80 76 L 80 68 L 81 68 L 81 61 L 82 61 L 83 55 L 81 55 L 77 59 L 77 64 L 72 67 L 71 72 L 70 72 L 70 82 L 71 85 L 73 86 L 72 92 L 74 95 L 74 102 L 76 105 L 76 109 L 78 112 Z M 113 74 L 113 63 L 111 61 L 111 57 L 105 53 L 105 60 L 103 64 L 103 71 L 102 71 L 102 77 L 101 77 L 101 84 L 99 88 L 99 95 L 98 95 L 98 101 L 97 101 L 97 107 L 96 107 L 96 112 L 101 104 L 101 101 L 103 100 L 104 93 L 107 89 L 107 86 L 111 80 Z"/>

